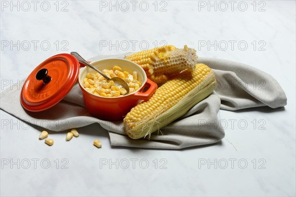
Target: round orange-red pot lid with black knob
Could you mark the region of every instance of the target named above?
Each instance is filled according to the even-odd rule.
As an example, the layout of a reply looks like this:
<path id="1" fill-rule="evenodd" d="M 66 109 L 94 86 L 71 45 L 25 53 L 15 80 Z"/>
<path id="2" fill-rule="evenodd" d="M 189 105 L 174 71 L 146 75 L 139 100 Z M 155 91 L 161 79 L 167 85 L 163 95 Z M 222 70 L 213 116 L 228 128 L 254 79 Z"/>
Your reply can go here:
<path id="1" fill-rule="evenodd" d="M 79 63 L 70 54 L 58 54 L 37 66 L 28 76 L 21 103 L 28 111 L 46 110 L 62 100 L 74 86 Z"/>

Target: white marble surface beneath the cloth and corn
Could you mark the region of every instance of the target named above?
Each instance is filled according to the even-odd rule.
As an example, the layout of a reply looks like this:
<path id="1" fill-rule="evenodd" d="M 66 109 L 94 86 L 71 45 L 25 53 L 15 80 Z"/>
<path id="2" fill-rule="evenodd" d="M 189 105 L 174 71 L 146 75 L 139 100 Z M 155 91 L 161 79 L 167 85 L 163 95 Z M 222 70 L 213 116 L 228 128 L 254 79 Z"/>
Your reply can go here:
<path id="1" fill-rule="evenodd" d="M 43 1 L 37 2 L 36 11 L 31 1 L 28 11 L 28 4 L 13 1 L 15 4 L 19 2 L 18 11 L 17 7 L 11 7 L 11 2 L 1 1 L 1 91 L 7 83 L 15 84 L 40 62 L 58 53 L 79 51 L 90 58 L 138 51 L 146 47 L 145 43 L 152 48 L 164 40 L 178 47 L 184 44 L 194 47 L 200 57 L 238 61 L 266 71 L 283 87 L 288 105 L 284 110 L 263 107 L 241 112 L 220 111 L 220 119 L 228 123 L 221 143 L 180 151 L 111 147 L 107 131 L 99 125 L 81 128 L 80 136 L 70 142 L 65 142 L 65 133 L 50 133 L 55 144 L 48 147 L 37 139 L 39 130 L 0 111 L 1 196 L 296 195 L 295 1 L 257 1 L 256 11 L 253 1 L 245 1 L 246 11 L 238 9 L 244 9 L 240 1 L 234 3 L 234 11 L 228 1 L 224 1 L 228 6 L 226 11 L 222 11 L 225 4 L 218 1 L 217 11 L 215 7 L 209 7 L 208 1 L 158 1 L 158 11 L 155 11 L 154 1 L 146 1 L 148 11 L 142 11 L 145 2 L 140 9 L 140 1 L 136 3 L 135 11 L 130 1 L 126 1 L 130 6 L 127 11 L 120 10 L 125 9 L 126 4 L 121 4 L 118 11 L 115 7 L 110 11 L 109 6 L 103 6 L 110 5 L 109 1 L 101 1 L 102 6 L 100 1 L 59 1 L 58 11 L 56 1 L 48 1 L 48 11 L 43 11 L 47 9 Z M 40 7 L 42 2 L 43 10 Z M 120 2 L 117 3 L 120 6 Z M 164 5 L 166 11 L 160 12 Z M 68 11 L 61 11 L 64 6 Z M 265 11 L 258 11 L 262 6 Z M 17 43 L 17 40 L 20 40 L 19 50 L 17 46 L 11 50 L 10 41 Z M 26 50 L 26 40 L 31 43 L 29 50 Z M 118 48 L 113 46 L 110 50 L 109 41 L 116 45 L 116 40 Z M 217 50 L 214 46 L 209 50 L 202 45 L 208 40 L 211 43 L 217 40 L 221 45 Z M 226 50 L 222 50 L 222 40 L 228 43 Z M 233 50 L 229 40 L 236 41 Z M 255 50 L 254 40 L 257 43 Z M 40 46 L 42 41 L 43 49 Z M 246 50 L 238 47 L 239 41 L 248 44 Z M 36 49 L 34 42 L 37 42 Z M 46 42 L 50 43 L 48 50 L 44 49 L 47 48 Z M 65 43 L 68 44 L 66 51 L 62 51 Z M 127 49 L 126 43 L 129 43 Z M 262 48 L 265 50 L 259 51 L 262 43 L 265 43 Z M 237 120 L 233 127 L 229 119 Z M 254 119 L 257 122 L 255 128 Z M 248 127 L 240 129 L 239 120 L 245 120 Z M 265 129 L 259 130 L 262 124 Z M 95 138 L 101 139 L 102 149 L 93 147 Z M 38 160 L 36 169 L 34 159 Z M 102 165 L 109 160 L 116 163 L 116 159 L 118 169 L 115 164 L 111 167 Z M 138 159 L 134 168 L 133 159 Z M 232 159 L 236 160 L 233 167 Z M 31 165 L 26 169 L 28 160 Z M 129 166 L 124 169 L 126 160 Z M 217 169 L 214 164 L 209 167 L 199 165 L 205 161 L 215 163 L 215 160 Z M 50 166 L 44 169 L 47 161 Z M 145 161 L 149 162 L 147 169 L 143 169 Z M 161 169 L 160 164 L 165 161 L 166 169 Z M 223 169 L 225 161 L 228 166 Z M 245 161 L 248 165 L 243 169 Z M 5 165 L 6 162 L 9 164 Z M 16 164 L 11 166 L 11 162 Z M 62 164 L 68 169 L 63 169 Z"/>

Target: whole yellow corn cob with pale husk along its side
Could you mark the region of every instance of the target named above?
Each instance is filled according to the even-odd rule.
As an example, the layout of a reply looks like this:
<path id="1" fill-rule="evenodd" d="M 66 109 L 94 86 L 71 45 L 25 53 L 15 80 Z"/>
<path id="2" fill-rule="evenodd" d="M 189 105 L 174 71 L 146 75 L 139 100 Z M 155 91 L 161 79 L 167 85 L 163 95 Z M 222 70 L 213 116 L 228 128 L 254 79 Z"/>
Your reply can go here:
<path id="1" fill-rule="evenodd" d="M 208 97 L 215 88 L 214 72 L 204 64 L 182 72 L 159 87 L 148 101 L 142 101 L 123 119 L 125 132 L 138 139 L 183 116 L 191 107 Z"/>

